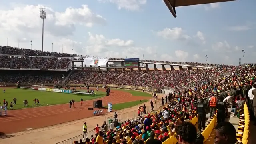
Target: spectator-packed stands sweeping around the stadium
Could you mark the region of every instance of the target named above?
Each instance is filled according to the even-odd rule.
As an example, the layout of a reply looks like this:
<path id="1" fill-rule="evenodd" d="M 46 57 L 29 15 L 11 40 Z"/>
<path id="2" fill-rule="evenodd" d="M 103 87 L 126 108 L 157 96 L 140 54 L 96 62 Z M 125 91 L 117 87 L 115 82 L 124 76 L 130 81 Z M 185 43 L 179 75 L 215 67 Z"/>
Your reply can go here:
<path id="1" fill-rule="evenodd" d="M 248 104 L 248 90 L 256 82 L 255 65 L 226 66 L 217 64 L 202 64 L 186 62 L 192 66 L 211 66 L 215 69 L 199 69 L 189 71 L 150 71 L 150 72 L 122 72 L 122 71 L 76 71 L 68 72 L 71 60 L 75 60 L 72 54 L 41 52 L 21 48 L 0 46 L 0 83 L 1 84 L 61 84 L 66 80 L 67 85 L 125 85 L 135 87 L 153 87 L 158 90 L 165 87 L 174 88 L 170 94 L 172 101 L 163 106 L 162 110 L 151 112 L 131 120 L 120 120 L 114 129 L 104 130 L 102 138 L 108 144 L 131 144 L 135 139 L 158 139 L 162 144 L 176 144 L 175 128 L 182 122 L 196 124 L 196 102 L 199 98 L 208 101 L 212 94 L 218 95 L 222 90 L 229 91 L 228 96 L 242 95 Z M 76 60 L 82 60 L 78 58 Z M 109 60 L 124 60 L 110 58 Z M 144 60 L 143 62 L 157 62 L 166 64 L 184 64 L 184 62 L 168 62 Z M 5 69 L 6 68 L 6 69 Z M 8 69 L 9 68 L 9 69 Z M 24 70 L 18 70 L 18 69 Z M 36 68 L 27 70 L 28 68 Z M 11 69 L 11 70 L 10 70 Z M 49 69 L 56 71 L 47 71 Z M 58 71 L 66 69 L 66 71 Z M 226 75 L 224 75 L 226 74 Z M 246 86 L 244 90 L 240 90 Z M 247 92 L 247 93 L 246 93 Z M 249 110 L 247 104 L 240 109 L 240 122 L 237 139 L 243 144 L 249 140 Z M 168 118 L 164 118 L 168 113 Z M 115 121 L 115 120 L 114 120 Z M 207 127 L 201 133 L 208 140 L 216 124 L 216 114 L 212 116 Z M 94 132 L 91 132 L 94 135 Z M 89 134 L 89 133 L 88 133 Z M 79 136 L 77 138 L 80 138 Z M 72 139 L 74 140 L 74 139 Z M 85 141 L 93 143 L 96 137 L 86 138 Z M 73 141 L 72 141 L 73 142 Z M 70 142 L 70 143 L 72 143 Z"/>

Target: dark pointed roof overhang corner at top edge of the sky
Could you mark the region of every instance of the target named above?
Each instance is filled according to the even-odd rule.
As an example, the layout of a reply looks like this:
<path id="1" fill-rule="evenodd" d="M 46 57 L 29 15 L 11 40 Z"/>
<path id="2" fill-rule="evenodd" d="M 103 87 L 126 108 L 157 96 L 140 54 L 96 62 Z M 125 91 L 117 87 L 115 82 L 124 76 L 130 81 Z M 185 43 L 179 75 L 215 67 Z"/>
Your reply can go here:
<path id="1" fill-rule="evenodd" d="M 172 15 L 176 18 L 176 10 L 175 7 L 178 6 L 192 6 L 198 4 L 210 4 L 216 2 L 228 2 L 228 1 L 235 1 L 235 0 L 164 0 L 164 3 L 169 8 Z"/>

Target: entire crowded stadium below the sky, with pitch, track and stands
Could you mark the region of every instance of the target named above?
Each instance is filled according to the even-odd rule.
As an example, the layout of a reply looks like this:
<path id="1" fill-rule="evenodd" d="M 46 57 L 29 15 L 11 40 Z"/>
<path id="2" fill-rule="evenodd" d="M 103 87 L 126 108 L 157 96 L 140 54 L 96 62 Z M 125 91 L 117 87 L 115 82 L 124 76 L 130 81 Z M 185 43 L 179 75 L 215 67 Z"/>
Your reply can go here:
<path id="1" fill-rule="evenodd" d="M 164 3 L 176 18 L 176 7 L 224 1 L 232 0 Z M 43 40 L 42 50 L 8 46 L 8 38 L 0 46 L 0 144 L 255 141 L 256 64 L 70 53 L 44 51 Z"/>

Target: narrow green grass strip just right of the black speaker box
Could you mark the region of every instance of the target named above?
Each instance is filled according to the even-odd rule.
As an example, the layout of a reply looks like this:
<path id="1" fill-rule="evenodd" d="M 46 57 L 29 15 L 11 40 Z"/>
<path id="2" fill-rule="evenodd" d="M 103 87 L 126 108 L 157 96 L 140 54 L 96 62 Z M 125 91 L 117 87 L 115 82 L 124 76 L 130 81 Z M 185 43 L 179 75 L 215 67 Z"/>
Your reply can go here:
<path id="1" fill-rule="evenodd" d="M 112 105 L 112 109 L 113 110 L 122 110 L 124 108 L 130 108 L 139 104 L 142 104 L 144 102 L 148 102 L 149 100 L 137 100 L 137 101 L 133 101 L 133 102 L 124 102 L 124 103 L 120 103 L 120 104 L 113 104 Z M 108 106 L 104 106 L 105 108 L 108 108 Z"/>

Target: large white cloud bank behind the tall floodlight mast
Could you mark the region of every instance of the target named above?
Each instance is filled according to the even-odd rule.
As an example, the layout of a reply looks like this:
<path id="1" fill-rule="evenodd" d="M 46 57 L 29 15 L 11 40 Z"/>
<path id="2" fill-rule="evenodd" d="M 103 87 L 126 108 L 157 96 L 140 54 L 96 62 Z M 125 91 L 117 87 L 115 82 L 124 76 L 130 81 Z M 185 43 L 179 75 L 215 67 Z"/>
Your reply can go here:
<path id="1" fill-rule="evenodd" d="M 11 10 L 0 10 L 0 30 L 4 32 L 41 34 L 42 20 L 39 9 L 42 5 L 21 5 Z M 94 14 L 87 5 L 82 8 L 66 8 L 56 12 L 50 7 L 46 11 L 45 32 L 53 36 L 68 36 L 75 31 L 75 24 L 91 27 L 94 24 L 106 24 L 106 19 Z"/>

